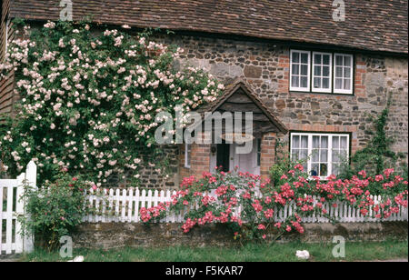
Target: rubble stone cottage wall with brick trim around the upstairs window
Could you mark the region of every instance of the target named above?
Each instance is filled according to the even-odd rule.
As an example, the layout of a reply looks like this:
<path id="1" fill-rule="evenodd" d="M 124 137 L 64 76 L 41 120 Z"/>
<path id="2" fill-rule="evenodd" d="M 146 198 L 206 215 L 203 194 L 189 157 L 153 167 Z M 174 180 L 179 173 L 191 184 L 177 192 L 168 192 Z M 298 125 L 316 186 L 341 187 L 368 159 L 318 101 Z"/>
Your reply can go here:
<path id="1" fill-rule="evenodd" d="M 391 94 L 386 131 L 394 137 L 394 151 L 403 153 L 402 162 L 407 163 L 407 58 L 356 53 L 354 95 L 300 93 L 289 91 L 289 45 L 187 35 L 157 35 L 157 39 L 185 50 L 176 67 L 203 68 L 224 84 L 243 78 L 290 131 L 350 133 L 352 153 L 372 138 L 374 123 L 369 115 L 379 115 Z M 288 134 L 277 137 L 289 140 Z"/>

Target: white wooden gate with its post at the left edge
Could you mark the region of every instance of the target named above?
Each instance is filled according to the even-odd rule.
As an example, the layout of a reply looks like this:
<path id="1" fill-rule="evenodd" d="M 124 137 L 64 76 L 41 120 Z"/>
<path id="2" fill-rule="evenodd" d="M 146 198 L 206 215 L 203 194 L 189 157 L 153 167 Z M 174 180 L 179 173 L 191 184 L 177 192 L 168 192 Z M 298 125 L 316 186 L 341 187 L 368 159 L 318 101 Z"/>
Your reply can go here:
<path id="1" fill-rule="evenodd" d="M 22 236 L 18 215 L 25 215 L 24 202 L 19 199 L 24 192 L 24 183 L 36 185 L 37 166 L 31 161 L 25 173 L 16 179 L 0 180 L 0 255 L 32 252 L 34 236 Z"/>

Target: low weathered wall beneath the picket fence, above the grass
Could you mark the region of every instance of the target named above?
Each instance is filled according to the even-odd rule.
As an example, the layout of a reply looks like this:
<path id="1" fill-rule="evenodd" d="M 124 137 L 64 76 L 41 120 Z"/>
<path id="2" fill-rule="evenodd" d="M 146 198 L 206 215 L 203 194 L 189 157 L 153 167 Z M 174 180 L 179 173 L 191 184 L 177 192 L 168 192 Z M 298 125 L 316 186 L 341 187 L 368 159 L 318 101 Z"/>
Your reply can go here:
<path id="1" fill-rule="evenodd" d="M 233 240 L 226 225 L 205 225 L 195 227 L 184 234 L 181 224 L 127 224 L 104 223 L 83 224 L 73 236 L 75 247 L 118 248 L 123 246 L 229 246 Z M 289 233 L 281 236 L 279 242 L 300 240 L 306 243 L 329 243 L 334 235 L 342 235 L 345 240 L 384 241 L 386 239 L 407 240 L 407 222 L 385 223 L 341 223 L 341 224 L 304 224 L 305 233 Z M 267 239 L 274 237 L 274 231 L 267 234 Z"/>

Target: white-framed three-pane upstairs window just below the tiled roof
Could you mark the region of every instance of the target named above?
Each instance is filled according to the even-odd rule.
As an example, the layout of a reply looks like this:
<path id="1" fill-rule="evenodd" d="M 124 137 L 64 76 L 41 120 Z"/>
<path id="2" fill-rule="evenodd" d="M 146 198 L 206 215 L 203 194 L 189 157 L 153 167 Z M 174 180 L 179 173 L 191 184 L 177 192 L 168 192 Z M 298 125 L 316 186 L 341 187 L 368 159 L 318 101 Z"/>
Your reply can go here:
<path id="1" fill-rule="evenodd" d="M 291 50 L 290 91 L 352 95 L 354 55 Z"/>

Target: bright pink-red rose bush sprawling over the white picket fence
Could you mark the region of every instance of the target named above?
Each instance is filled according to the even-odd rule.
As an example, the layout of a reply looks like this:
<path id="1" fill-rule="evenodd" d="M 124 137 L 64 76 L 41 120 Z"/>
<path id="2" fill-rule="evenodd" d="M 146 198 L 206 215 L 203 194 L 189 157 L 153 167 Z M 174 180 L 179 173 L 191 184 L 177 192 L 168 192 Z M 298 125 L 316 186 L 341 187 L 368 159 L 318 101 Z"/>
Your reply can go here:
<path id="1" fill-rule="evenodd" d="M 371 189 L 379 185 L 383 189 L 382 201 L 375 204 Z M 140 215 L 143 222 L 149 223 L 182 212 L 185 213 L 182 225 L 185 233 L 194 226 L 221 223 L 229 225 L 234 239 L 265 239 L 267 229 L 272 227 L 275 238 L 292 231 L 303 234 L 305 216 L 322 215 L 336 222 L 324 204 L 337 207 L 346 202 L 364 216 L 372 210 L 374 218 L 383 220 L 398 213 L 400 206 L 407 208 L 407 196 L 407 181 L 395 175 L 393 169 L 386 169 L 384 174 L 375 177 L 367 177 L 362 171 L 351 180 L 330 175 L 321 181 L 319 177 L 308 179 L 303 165 L 295 165 L 276 185 L 259 175 L 241 172 L 204 173 L 199 179 L 186 177 L 172 201 L 141 208 Z M 296 206 L 292 215 L 282 222 L 274 220 L 274 214 L 286 205 Z"/>

